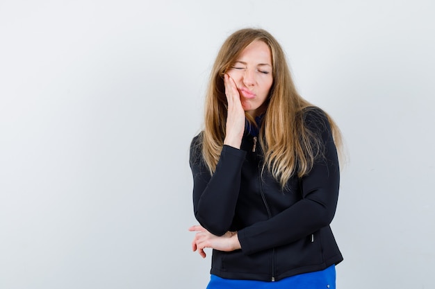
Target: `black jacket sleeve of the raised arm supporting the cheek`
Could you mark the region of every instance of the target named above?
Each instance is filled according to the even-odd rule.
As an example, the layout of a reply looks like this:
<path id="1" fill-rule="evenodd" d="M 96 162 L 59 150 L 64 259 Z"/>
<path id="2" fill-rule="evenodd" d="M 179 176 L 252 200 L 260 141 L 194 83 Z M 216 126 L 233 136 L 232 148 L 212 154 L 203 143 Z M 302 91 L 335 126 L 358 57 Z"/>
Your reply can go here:
<path id="1" fill-rule="evenodd" d="M 200 135 L 195 137 L 190 145 L 193 210 L 202 227 L 222 236 L 233 221 L 246 152 L 223 146 L 215 173 L 211 175 L 202 158 L 200 139 Z"/>

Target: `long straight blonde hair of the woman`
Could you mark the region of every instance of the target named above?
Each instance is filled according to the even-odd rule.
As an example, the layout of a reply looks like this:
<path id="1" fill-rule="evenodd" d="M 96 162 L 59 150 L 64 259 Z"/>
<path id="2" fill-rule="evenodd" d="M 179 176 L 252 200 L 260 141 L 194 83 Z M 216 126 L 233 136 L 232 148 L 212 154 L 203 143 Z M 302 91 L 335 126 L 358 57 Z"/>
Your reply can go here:
<path id="1" fill-rule="evenodd" d="M 266 100 L 268 107 L 258 137 L 264 151 L 263 169 L 268 168 L 284 189 L 293 175 L 302 177 L 309 173 L 315 159 L 322 154 L 322 139 L 319 134 L 306 128 L 303 112 L 313 105 L 297 93 L 284 51 L 277 40 L 263 29 L 245 28 L 236 31 L 227 38 L 217 53 L 206 91 L 202 156 L 213 174 L 222 151 L 227 121 L 223 76 L 243 49 L 255 41 L 265 42 L 272 55 L 273 84 Z M 249 114 L 246 116 L 253 122 Z M 327 114 L 326 116 L 334 142 L 340 150 L 340 131 L 334 121 Z"/>

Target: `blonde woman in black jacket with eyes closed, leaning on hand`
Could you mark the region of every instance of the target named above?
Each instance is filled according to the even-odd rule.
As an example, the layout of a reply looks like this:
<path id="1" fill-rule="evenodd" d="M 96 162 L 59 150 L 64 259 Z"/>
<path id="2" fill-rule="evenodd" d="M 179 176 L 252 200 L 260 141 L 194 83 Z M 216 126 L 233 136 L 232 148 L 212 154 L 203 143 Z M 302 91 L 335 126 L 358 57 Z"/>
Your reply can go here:
<path id="1" fill-rule="evenodd" d="M 213 248 L 209 289 L 335 288 L 339 143 L 329 116 L 297 94 L 270 33 L 228 37 L 190 146 L 200 225 L 189 230 L 194 251 Z"/>

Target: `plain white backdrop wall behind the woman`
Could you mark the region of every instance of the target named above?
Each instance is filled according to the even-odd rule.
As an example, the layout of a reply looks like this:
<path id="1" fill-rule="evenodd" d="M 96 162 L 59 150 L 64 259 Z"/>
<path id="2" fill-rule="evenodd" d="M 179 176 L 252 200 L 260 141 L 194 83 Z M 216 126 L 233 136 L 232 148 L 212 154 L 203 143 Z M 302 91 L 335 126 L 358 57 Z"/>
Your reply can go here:
<path id="1" fill-rule="evenodd" d="M 205 288 L 190 140 L 265 28 L 345 138 L 338 288 L 435 288 L 433 1 L 0 1 L 0 288 Z"/>

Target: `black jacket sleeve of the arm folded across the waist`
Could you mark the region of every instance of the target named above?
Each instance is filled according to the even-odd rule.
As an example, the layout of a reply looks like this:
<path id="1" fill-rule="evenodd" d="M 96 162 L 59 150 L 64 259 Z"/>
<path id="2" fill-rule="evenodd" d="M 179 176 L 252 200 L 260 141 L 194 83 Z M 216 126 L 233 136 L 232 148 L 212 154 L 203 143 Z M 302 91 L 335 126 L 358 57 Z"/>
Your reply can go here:
<path id="1" fill-rule="evenodd" d="M 328 226 L 336 211 L 340 170 L 331 127 L 321 110 L 307 112 L 306 125 L 321 134 L 324 150 L 308 175 L 302 177 L 302 199 L 276 216 L 238 231 L 242 251 L 253 254 L 306 238 Z"/>

